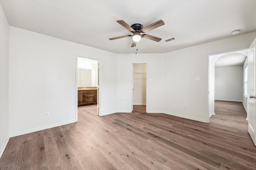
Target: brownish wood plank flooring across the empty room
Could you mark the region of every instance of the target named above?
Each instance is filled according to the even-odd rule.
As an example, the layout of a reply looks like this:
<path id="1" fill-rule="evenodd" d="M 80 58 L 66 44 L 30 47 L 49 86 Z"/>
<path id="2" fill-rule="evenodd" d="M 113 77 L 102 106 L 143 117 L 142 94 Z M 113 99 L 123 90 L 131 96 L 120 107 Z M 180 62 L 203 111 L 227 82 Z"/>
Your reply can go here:
<path id="1" fill-rule="evenodd" d="M 0 170 L 256 170 L 242 103 L 215 104 L 210 123 L 82 106 L 76 123 L 10 138 Z"/>

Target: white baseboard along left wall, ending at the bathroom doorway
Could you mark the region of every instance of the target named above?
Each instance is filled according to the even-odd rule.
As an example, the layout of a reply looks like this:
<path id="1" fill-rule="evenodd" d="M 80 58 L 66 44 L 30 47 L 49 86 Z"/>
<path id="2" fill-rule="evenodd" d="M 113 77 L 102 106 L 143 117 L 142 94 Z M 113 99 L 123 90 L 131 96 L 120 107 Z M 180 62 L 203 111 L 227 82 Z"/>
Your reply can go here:
<path id="1" fill-rule="evenodd" d="M 36 132 L 36 131 L 42 131 L 44 129 L 49 129 L 49 128 L 52 128 L 52 127 L 67 125 L 67 124 L 74 123 L 74 122 L 76 122 L 76 120 L 65 121 L 65 122 L 56 123 L 56 124 L 52 124 L 52 125 L 37 127 L 37 128 L 34 128 L 34 129 L 28 129 L 26 131 L 19 131 L 19 132 L 11 133 L 9 135 L 10 135 L 10 137 L 15 137 L 15 136 L 24 135 L 24 134 L 27 134 L 27 133 L 32 133 L 32 132 Z"/>

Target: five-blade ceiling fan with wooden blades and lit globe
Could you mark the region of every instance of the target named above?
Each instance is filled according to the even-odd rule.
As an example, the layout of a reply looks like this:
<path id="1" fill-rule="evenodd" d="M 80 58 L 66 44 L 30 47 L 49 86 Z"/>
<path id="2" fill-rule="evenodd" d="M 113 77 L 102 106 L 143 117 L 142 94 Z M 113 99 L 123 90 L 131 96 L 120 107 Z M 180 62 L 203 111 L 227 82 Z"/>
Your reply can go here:
<path id="1" fill-rule="evenodd" d="M 162 21 L 162 20 L 156 21 L 144 28 L 143 28 L 143 25 L 141 25 L 140 23 L 134 23 L 131 26 L 129 26 L 123 20 L 119 20 L 116 22 L 118 22 L 120 25 L 122 25 L 123 27 L 128 29 L 130 32 L 132 32 L 133 35 L 124 35 L 124 36 L 120 36 L 120 37 L 114 37 L 114 38 L 110 38 L 110 40 L 124 38 L 124 37 L 132 37 L 132 46 L 131 47 L 135 47 L 137 42 L 140 41 L 141 38 L 146 38 L 146 39 L 150 39 L 150 40 L 157 41 L 157 42 L 161 41 L 161 39 L 162 39 L 162 38 L 158 38 L 158 37 L 148 35 L 148 34 L 142 34 L 142 35 L 140 34 L 140 33 L 145 33 L 147 31 L 150 31 L 152 29 L 155 29 L 157 27 L 164 25 L 164 21 Z"/>

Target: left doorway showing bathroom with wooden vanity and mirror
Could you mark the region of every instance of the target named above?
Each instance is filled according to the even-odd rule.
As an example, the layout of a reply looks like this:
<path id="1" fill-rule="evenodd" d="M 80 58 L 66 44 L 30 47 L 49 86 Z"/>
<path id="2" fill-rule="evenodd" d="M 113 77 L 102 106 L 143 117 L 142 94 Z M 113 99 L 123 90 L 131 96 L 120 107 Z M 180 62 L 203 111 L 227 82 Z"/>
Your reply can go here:
<path id="1" fill-rule="evenodd" d="M 76 55 L 76 121 L 78 121 L 78 106 L 95 105 L 97 115 L 100 115 L 99 99 L 100 61 Z"/>

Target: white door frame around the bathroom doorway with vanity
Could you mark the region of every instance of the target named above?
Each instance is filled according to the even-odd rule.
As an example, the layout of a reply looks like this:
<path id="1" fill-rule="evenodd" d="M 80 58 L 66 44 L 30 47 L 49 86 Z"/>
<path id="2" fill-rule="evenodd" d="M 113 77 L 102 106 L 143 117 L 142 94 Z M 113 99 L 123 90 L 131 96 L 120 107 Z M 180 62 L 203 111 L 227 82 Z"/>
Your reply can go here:
<path id="1" fill-rule="evenodd" d="M 98 64 L 97 64 L 97 115 L 101 116 L 101 112 L 100 112 L 100 96 L 101 96 L 101 93 L 100 93 L 100 85 L 101 85 L 101 62 L 99 59 L 93 59 L 93 58 L 90 58 L 90 57 L 86 57 L 84 55 L 79 55 L 79 54 L 76 54 L 76 82 L 75 82 L 75 120 L 78 121 L 78 57 L 82 57 L 82 58 L 86 58 L 86 59 L 90 59 L 90 60 L 95 60 L 95 61 L 98 61 Z"/>

